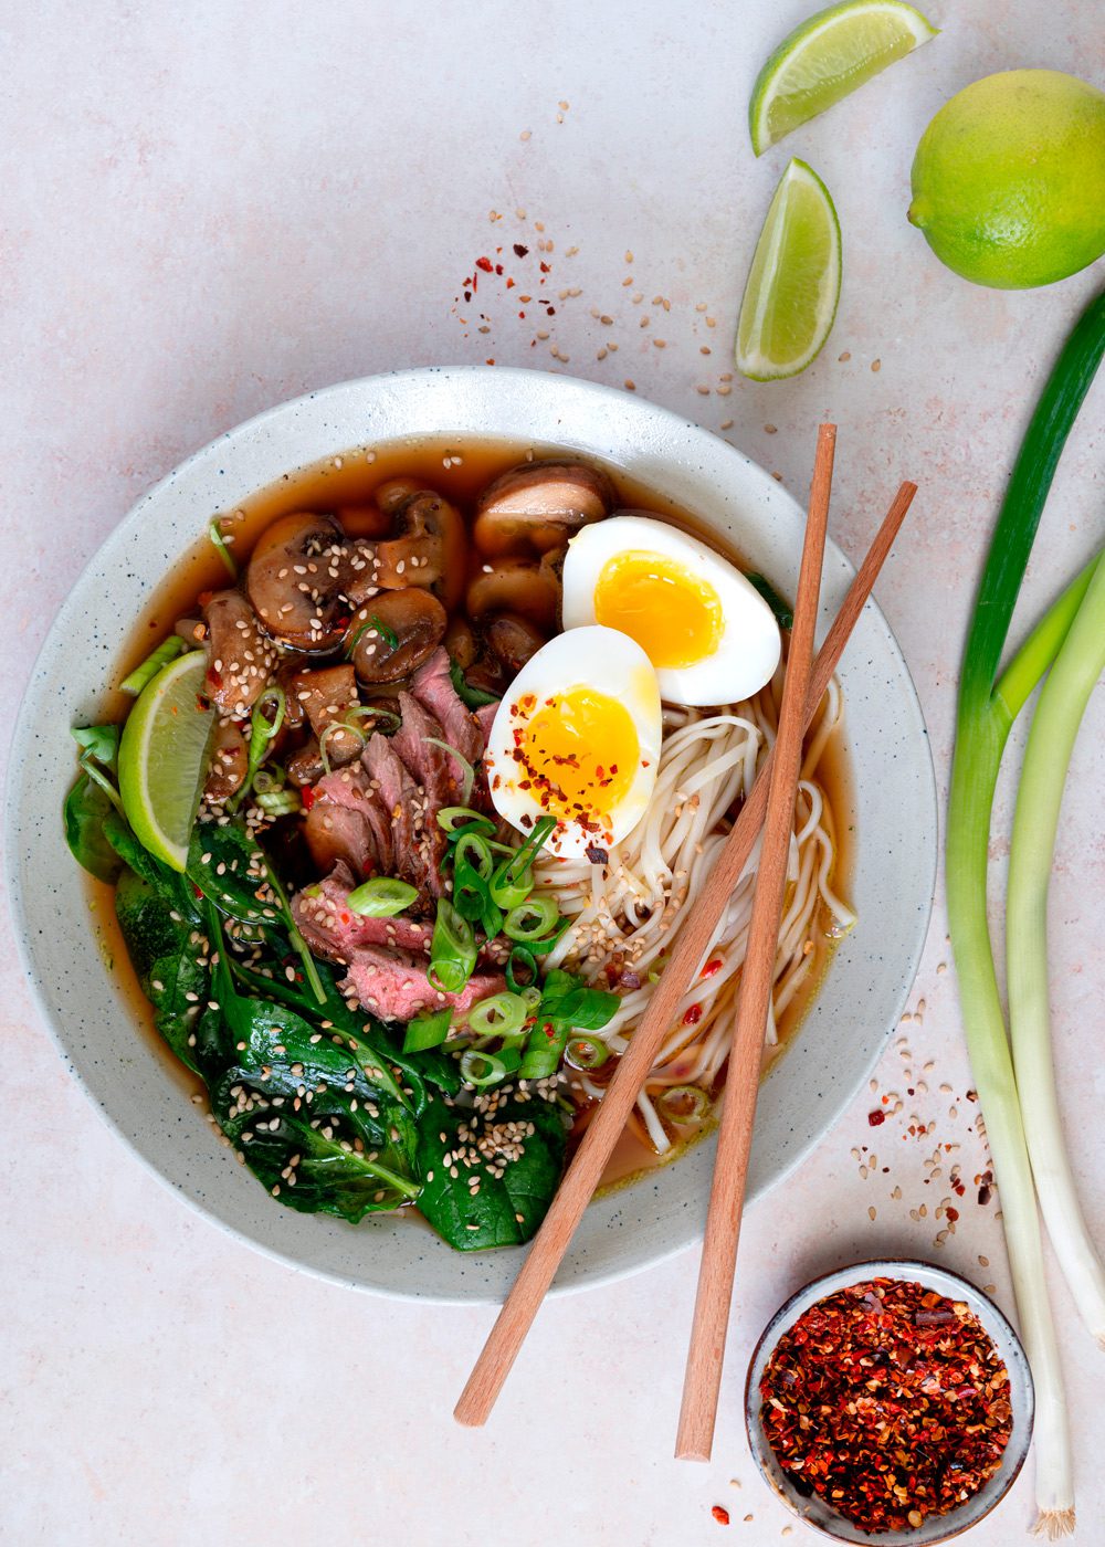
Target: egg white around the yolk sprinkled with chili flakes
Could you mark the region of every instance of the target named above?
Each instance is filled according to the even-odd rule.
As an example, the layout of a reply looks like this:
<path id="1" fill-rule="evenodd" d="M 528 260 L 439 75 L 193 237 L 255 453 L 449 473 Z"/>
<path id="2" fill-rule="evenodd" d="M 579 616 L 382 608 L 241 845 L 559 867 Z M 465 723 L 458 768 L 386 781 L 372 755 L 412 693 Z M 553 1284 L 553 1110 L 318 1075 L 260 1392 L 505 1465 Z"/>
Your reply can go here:
<path id="1" fill-rule="evenodd" d="M 526 770 L 514 755 L 514 733 L 549 698 L 582 687 L 616 699 L 628 712 L 638 735 L 638 766 L 630 787 L 604 812 L 610 820 L 600 831 L 576 821 L 557 823 L 546 846 L 560 857 L 579 857 L 588 848 L 607 849 L 627 837 L 648 808 L 662 733 L 659 685 L 648 656 L 628 634 L 597 623 L 557 634 L 531 656 L 512 681 L 498 705 L 484 753 L 495 811 L 511 826 L 528 834 L 534 821 L 546 815 L 546 809 L 532 789 L 520 787 L 526 781 Z M 531 696 L 534 707 L 526 713 L 525 702 Z"/>

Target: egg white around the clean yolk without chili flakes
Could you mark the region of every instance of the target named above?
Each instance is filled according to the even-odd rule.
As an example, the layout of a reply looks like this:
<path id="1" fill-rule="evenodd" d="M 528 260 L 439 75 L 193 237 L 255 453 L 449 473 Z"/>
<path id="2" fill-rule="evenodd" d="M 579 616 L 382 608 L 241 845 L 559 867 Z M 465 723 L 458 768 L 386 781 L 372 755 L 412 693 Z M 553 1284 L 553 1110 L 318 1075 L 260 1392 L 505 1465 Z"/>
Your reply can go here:
<path id="1" fill-rule="evenodd" d="M 684 667 L 656 667 L 659 692 L 670 704 L 735 704 L 758 693 L 778 665 L 782 640 L 775 616 L 755 586 L 696 537 L 647 515 L 614 515 L 582 528 L 563 562 L 563 627 L 596 620 L 594 593 L 604 566 L 625 552 L 653 552 L 684 568 L 717 594 L 723 631 L 717 645 Z"/>

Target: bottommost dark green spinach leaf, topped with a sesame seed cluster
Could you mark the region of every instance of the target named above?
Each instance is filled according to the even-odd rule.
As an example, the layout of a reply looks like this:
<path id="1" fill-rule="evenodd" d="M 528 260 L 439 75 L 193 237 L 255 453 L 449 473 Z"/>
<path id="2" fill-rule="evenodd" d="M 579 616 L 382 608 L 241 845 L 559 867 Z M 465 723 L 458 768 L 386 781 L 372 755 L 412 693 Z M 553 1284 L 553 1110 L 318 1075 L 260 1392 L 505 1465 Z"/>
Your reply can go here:
<path id="1" fill-rule="evenodd" d="M 483 1140 L 501 1177 L 492 1176 L 483 1156 L 474 1166 L 444 1163 L 446 1154 L 469 1153 L 474 1140 Z M 563 1173 L 565 1142 L 559 1108 L 537 1095 L 526 1101 L 506 1095 L 491 1118 L 433 1097 L 418 1129 L 418 1207 L 458 1252 L 520 1245 L 548 1213 Z M 514 1143 L 522 1154 L 506 1160 L 501 1149 Z M 480 1179 L 478 1193 L 469 1187 L 472 1177 Z"/>

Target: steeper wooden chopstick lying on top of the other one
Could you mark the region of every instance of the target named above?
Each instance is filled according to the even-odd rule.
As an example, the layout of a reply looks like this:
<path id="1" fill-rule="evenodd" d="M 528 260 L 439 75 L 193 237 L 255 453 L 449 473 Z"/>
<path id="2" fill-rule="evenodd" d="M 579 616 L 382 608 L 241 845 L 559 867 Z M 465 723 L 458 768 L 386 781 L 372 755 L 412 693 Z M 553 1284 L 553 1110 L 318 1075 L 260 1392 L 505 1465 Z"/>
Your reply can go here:
<path id="1" fill-rule="evenodd" d="M 721 1363 L 737 1272 L 737 1241 L 744 1208 L 748 1157 L 752 1149 L 752 1123 L 760 1089 L 763 1036 L 771 1006 L 771 989 L 775 981 L 778 924 L 783 916 L 786 869 L 794 831 L 794 801 L 802 772 L 803 712 L 814 665 L 814 633 L 825 560 L 834 447 L 836 425 L 822 424 L 817 432 L 817 458 L 809 489 L 809 515 L 802 548 L 799 596 L 794 603 L 794 630 L 786 657 L 775 756 L 768 786 L 768 814 L 763 821 L 752 920 L 748 930 L 748 950 L 741 968 L 729 1049 L 718 1149 L 713 1160 L 713 1185 L 710 1187 L 703 1259 L 698 1270 L 687 1372 L 682 1383 L 679 1431 L 675 1442 L 675 1454 L 682 1460 L 709 1460 L 713 1446 Z"/>

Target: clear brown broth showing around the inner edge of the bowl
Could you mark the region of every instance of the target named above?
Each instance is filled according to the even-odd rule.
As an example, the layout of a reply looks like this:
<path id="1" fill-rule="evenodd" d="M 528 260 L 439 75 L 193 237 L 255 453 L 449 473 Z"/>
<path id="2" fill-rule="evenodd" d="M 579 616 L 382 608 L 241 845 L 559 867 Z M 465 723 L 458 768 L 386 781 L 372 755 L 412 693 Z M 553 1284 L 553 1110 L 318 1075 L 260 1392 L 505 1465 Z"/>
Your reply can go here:
<path id="1" fill-rule="evenodd" d="M 393 441 L 370 453 L 361 450 L 337 455 L 325 463 L 288 472 L 275 484 L 262 489 L 243 504 L 231 511 L 212 511 L 210 514 L 212 517 L 220 517 L 221 529 L 231 541 L 231 551 L 238 566 L 245 568 L 245 562 L 265 528 L 277 520 L 277 517 L 286 515 L 291 511 L 348 511 L 351 514 L 358 506 L 371 504 L 375 492 L 382 483 L 392 478 L 409 476 L 424 483 L 426 487 L 435 489 L 463 512 L 467 512 L 483 489 L 509 467 L 526 459 L 563 455 L 563 450 L 556 446 L 419 436 Z M 368 456 L 371 456 L 371 461 Z M 599 459 L 588 456 L 587 461 L 597 463 Z M 695 520 L 692 512 L 681 509 L 665 497 L 628 478 L 614 466 L 605 464 L 605 470 L 618 489 L 619 506 L 659 515 L 673 526 L 701 538 L 710 548 L 718 549 L 740 568 L 746 571 L 752 568 L 732 546 L 718 541 L 717 535 L 701 521 Z M 351 520 L 350 524 L 353 524 Z M 201 591 L 218 589 L 228 583 L 226 568 L 215 548 L 206 537 L 198 538 L 189 554 L 175 566 L 173 572 L 155 589 L 145 613 L 135 625 L 121 654 L 118 681 L 122 681 L 128 671 L 145 659 L 155 645 L 161 644 L 175 630 L 178 619 L 190 617 L 197 613 L 197 597 Z M 105 718 L 122 719 L 132 702 L 133 699 L 118 690 L 108 690 L 104 702 Z M 822 753 L 817 778 L 825 787 L 828 801 L 837 818 L 837 859 L 833 869 L 833 880 L 847 894 L 851 874 L 854 801 L 851 795 L 848 752 L 839 732 L 830 738 Z M 156 1047 L 170 1067 L 173 1080 L 189 1095 L 201 1094 L 203 1084 L 200 1080 L 173 1058 L 153 1027 L 153 1009 L 139 987 L 115 916 L 113 888 L 104 886 L 91 877 L 87 877 L 87 883 L 90 910 L 101 939 L 101 950 L 105 961 L 113 964 L 111 972 L 122 989 L 128 1010 L 133 1012 L 144 1036 L 150 1040 L 152 1046 Z M 822 928 L 814 931 L 814 950 L 817 953 L 814 970 L 780 1021 L 778 1044 L 765 1052 L 761 1077 L 766 1075 L 792 1043 L 828 970 L 834 942 L 828 931 L 828 917 L 820 917 L 820 924 Z M 690 1145 L 701 1142 L 701 1139 L 712 1132 L 713 1126 L 713 1122 L 707 1122 L 700 1132 L 678 1143 L 664 1157 L 656 1156 L 648 1145 L 642 1143 L 641 1139 L 627 1129 L 604 1173 L 600 1191 L 624 1187 L 642 1171 L 669 1165 L 690 1148 Z"/>

